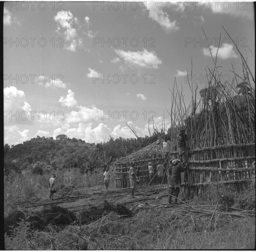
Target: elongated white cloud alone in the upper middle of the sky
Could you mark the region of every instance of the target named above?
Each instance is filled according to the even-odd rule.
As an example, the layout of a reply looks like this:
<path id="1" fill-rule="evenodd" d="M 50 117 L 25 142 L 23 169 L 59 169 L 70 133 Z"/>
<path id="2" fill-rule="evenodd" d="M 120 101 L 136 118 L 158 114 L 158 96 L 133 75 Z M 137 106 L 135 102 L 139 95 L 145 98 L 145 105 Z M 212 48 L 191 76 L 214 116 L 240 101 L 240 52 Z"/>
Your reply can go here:
<path id="1" fill-rule="evenodd" d="M 148 52 L 146 49 L 137 52 L 125 52 L 124 50 L 117 49 L 115 49 L 114 51 L 131 66 L 157 69 L 158 65 L 162 64 L 162 61 L 157 57 L 154 51 Z"/>

